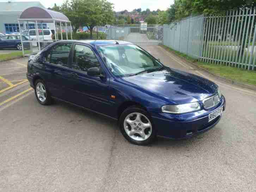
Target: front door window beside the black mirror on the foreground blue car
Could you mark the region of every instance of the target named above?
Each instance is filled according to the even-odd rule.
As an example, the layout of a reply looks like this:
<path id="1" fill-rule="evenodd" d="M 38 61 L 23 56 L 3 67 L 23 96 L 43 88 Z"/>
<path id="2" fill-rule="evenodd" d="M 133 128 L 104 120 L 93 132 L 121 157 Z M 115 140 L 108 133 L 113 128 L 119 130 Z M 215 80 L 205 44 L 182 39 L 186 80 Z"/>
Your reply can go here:
<path id="1" fill-rule="evenodd" d="M 75 45 L 72 68 L 87 72 L 89 68 L 99 67 L 100 64 L 93 51 L 84 45 Z"/>

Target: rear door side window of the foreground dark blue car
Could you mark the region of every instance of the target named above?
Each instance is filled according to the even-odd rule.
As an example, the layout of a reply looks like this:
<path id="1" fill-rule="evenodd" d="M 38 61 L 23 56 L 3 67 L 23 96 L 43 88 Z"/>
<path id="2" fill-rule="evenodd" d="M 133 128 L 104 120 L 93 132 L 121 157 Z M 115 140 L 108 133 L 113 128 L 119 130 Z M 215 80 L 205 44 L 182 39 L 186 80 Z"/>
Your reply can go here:
<path id="1" fill-rule="evenodd" d="M 71 51 L 72 43 L 58 44 L 45 53 L 46 62 L 62 66 L 68 66 L 68 58 Z"/>

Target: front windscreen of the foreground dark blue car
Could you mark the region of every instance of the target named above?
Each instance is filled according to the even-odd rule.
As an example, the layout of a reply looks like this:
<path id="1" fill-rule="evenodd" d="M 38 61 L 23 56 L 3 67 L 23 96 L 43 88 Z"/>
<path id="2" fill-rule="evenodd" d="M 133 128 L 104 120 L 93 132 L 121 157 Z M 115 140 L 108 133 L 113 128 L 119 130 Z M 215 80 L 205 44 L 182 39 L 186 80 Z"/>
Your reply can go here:
<path id="1" fill-rule="evenodd" d="M 100 56 L 116 77 L 151 73 L 163 65 L 136 45 L 99 46 Z"/>

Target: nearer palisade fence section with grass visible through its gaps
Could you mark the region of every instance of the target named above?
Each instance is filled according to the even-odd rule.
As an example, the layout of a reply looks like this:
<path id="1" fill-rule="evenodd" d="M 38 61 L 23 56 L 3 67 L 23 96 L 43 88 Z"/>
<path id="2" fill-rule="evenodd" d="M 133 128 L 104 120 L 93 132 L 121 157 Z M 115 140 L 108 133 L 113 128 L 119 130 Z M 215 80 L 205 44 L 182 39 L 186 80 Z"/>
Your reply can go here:
<path id="1" fill-rule="evenodd" d="M 256 8 L 230 10 L 226 16 L 204 19 L 200 61 L 255 69 Z"/>

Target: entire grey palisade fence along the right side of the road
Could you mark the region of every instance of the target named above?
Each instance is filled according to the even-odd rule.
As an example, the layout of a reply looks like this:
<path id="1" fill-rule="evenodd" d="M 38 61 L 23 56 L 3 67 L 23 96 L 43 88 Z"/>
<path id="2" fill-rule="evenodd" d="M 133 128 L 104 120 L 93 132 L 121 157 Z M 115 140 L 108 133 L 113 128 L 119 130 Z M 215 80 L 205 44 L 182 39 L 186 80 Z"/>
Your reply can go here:
<path id="1" fill-rule="evenodd" d="M 226 16 L 188 17 L 164 25 L 163 44 L 201 62 L 254 70 L 256 8 L 230 10 Z"/>

